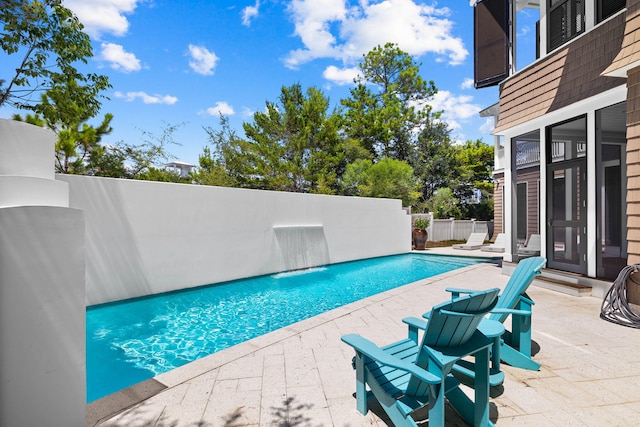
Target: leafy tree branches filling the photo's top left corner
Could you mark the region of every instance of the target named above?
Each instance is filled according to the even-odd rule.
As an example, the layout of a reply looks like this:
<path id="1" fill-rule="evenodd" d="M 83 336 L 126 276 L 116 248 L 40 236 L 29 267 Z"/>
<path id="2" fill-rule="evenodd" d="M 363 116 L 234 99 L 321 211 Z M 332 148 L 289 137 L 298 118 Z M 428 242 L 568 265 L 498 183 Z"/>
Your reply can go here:
<path id="1" fill-rule="evenodd" d="M 89 36 L 62 0 L 3 0 L 0 7 L 0 59 L 13 70 L 0 76 L 0 106 L 28 109 L 48 117 L 40 94 L 67 88 L 76 103 L 93 117 L 100 110 L 99 94 L 110 87 L 107 77 L 83 74 L 76 64 L 93 56 Z"/>

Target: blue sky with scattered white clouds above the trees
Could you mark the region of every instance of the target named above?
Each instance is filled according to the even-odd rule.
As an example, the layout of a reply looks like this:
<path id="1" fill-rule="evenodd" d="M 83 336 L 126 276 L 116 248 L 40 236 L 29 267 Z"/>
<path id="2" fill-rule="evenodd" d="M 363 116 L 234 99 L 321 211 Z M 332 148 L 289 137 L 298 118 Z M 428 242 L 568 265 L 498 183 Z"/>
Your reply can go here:
<path id="1" fill-rule="evenodd" d="M 349 95 L 362 55 L 397 43 L 421 63 L 439 93 L 431 104 L 457 140 L 492 143 L 493 121 L 478 112 L 496 87 L 473 88 L 473 9 L 468 0 L 66 0 L 85 25 L 94 57 L 84 69 L 109 76 L 113 113 L 106 143 L 141 143 L 166 127 L 169 151 L 197 164 L 203 126 L 220 112 L 241 124 L 277 101 L 283 85 L 323 90 L 333 105 Z M 527 24 L 521 35 L 526 35 Z M 534 43 L 533 36 L 530 35 Z M 2 66 L 0 66 L 1 71 Z M 4 73 L 2 73 L 4 74 Z M 0 109 L 0 117 L 15 111 Z M 95 120 L 98 123 L 98 119 Z"/>

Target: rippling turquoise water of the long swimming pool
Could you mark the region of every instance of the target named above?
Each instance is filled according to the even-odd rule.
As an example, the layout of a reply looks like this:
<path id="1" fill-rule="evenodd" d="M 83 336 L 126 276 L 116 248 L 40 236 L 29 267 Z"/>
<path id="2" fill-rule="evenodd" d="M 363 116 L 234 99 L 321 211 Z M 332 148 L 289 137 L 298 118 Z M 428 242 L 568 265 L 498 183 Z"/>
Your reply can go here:
<path id="1" fill-rule="evenodd" d="M 404 254 L 87 308 L 87 401 L 368 296 L 481 260 Z"/>

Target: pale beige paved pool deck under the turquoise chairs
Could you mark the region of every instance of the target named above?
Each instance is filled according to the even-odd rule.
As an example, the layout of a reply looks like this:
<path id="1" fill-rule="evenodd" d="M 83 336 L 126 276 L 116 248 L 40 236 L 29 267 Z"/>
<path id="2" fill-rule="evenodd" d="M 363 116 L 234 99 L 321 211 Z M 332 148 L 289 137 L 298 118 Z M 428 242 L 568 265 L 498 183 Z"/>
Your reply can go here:
<path id="1" fill-rule="evenodd" d="M 431 253 L 488 255 L 480 251 Z M 496 254 L 490 254 L 495 256 Z M 498 254 L 499 255 L 499 254 Z M 379 345 L 406 336 L 401 319 L 449 298 L 446 287 L 504 287 L 483 263 L 393 289 L 200 359 L 87 407 L 87 426 L 385 426 L 355 408 L 358 333 Z M 498 426 L 635 426 L 640 415 L 640 330 L 599 318 L 600 298 L 529 288 L 540 371 L 503 365 L 492 390 Z M 470 391 L 470 390 L 468 390 Z M 463 426 L 449 410 L 447 426 Z"/>

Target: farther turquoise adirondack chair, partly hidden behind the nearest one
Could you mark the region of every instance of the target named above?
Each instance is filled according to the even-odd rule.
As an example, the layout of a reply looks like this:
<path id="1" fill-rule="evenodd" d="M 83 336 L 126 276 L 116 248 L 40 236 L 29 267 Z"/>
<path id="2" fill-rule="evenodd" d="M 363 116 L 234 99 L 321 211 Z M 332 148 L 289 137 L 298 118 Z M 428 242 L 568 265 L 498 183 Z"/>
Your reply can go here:
<path id="1" fill-rule="evenodd" d="M 491 356 L 491 386 L 499 385 L 504 380 L 500 361 L 522 369 L 540 370 L 540 364 L 531 358 L 531 308 L 535 303 L 526 291 L 546 262 L 547 260 L 543 257 L 526 258 L 520 261 L 504 291 L 498 297 L 498 304 L 491 310 L 491 314 L 480 322 L 478 327 L 480 331 L 494 339 Z M 454 299 L 462 294 L 475 292 L 457 288 L 448 288 L 447 291 L 451 292 Z M 503 333 L 500 326 L 509 315 L 511 315 L 511 331 L 507 330 Z M 429 313 L 424 315 L 427 318 L 428 316 Z M 413 325 L 415 326 L 416 323 L 414 321 Z M 422 325 L 422 327 L 425 326 Z M 460 362 L 456 370 L 473 376 L 473 371 L 467 362 Z"/>

